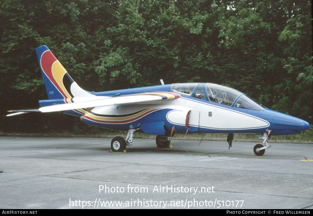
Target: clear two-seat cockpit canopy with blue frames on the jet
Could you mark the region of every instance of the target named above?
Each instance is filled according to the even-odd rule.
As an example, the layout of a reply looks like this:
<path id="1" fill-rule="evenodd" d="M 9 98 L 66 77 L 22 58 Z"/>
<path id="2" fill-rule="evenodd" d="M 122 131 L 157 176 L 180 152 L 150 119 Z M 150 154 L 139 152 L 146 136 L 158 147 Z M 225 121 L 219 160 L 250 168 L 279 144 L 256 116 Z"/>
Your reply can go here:
<path id="1" fill-rule="evenodd" d="M 212 83 L 175 83 L 172 92 L 229 107 L 262 111 L 265 108 L 254 99 L 236 89 Z"/>

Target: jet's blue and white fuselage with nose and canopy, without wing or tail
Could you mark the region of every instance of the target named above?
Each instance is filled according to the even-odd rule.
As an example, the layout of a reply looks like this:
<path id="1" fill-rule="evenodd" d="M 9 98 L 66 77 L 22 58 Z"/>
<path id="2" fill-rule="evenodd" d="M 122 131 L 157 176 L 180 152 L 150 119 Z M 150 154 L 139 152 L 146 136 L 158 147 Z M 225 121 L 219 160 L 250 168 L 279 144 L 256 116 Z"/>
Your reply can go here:
<path id="1" fill-rule="evenodd" d="M 184 87 L 190 92 L 179 92 L 174 89 L 175 87 Z M 223 100 L 223 97 L 214 99 L 212 97 L 214 91 L 207 92 L 213 89 L 225 92 L 228 100 Z M 237 90 L 211 83 L 178 83 L 98 92 L 94 95 L 122 97 L 144 92 L 177 93 L 180 97 L 165 101 L 94 108 L 91 114 L 86 114 L 84 122 L 125 131 L 140 127 L 144 123 L 142 131 L 152 135 L 165 135 L 166 130 L 170 131 L 174 126 L 176 133 L 185 133 L 186 115 L 190 111 L 188 133 L 262 134 L 270 130 L 271 135 L 286 135 L 298 134 L 310 128 L 310 124 L 304 120 L 275 112 Z M 234 92 L 237 94 L 234 95 Z M 233 99 L 229 100 L 231 93 Z M 146 124 L 151 124 L 151 128 Z"/>

